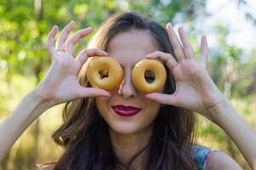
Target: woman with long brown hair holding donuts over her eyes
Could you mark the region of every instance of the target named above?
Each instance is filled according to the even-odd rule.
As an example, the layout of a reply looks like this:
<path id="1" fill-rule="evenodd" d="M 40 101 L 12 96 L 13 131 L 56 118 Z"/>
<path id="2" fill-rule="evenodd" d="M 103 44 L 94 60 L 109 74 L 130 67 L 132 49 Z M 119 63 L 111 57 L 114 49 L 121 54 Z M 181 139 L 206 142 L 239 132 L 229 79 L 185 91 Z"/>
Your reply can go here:
<path id="1" fill-rule="evenodd" d="M 73 59 L 73 46 L 92 31 L 80 30 L 67 40 L 73 27 L 72 21 L 56 44 L 57 26 L 49 32 L 51 68 L 2 122 L 0 160 L 38 116 L 67 102 L 64 122 L 53 134 L 65 150 L 58 161 L 41 169 L 241 169 L 221 151 L 194 144 L 192 111 L 223 128 L 256 169 L 256 134 L 208 76 L 206 37 L 201 38 L 201 59 L 196 61 L 182 27 L 180 44 L 170 23 L 165 30 L 141 14 L 125 13 L 107 20 L 89 48 Z M 122 66 L 125 78 L 119 88 L 91 87 L 86 66 L 90 57 L 99 55 Z M 158 59 L 166 67 L 166 84 L 158 93 L 143 94 L 132 84 L 132 68 L 145 58 Z M 139 112 L 117 114 L 131 107 Z"/>

